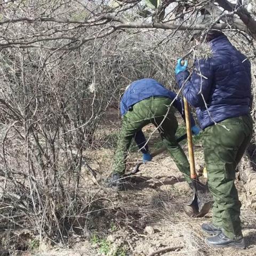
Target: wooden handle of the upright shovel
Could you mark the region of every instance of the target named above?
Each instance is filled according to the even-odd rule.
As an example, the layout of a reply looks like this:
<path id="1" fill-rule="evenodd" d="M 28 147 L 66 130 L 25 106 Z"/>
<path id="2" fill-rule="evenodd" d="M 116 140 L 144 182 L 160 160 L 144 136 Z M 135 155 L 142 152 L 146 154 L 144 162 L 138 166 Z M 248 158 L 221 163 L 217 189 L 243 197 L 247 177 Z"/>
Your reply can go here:
<path id="1" fill-rule="evenodd" d="M 195 167 L 195 157 L 193 150 L 193 139 L 191 132 L 191 122 L 190 122 L 190 111 L 189 105 L 185 97 L 183 97 L 184 105 L 185 105 L 185 117 L 186 117 L 186 128 L 188 135 L 188 156 L 189 156 L 189 165 L 190 165 L 190 178 L 196 179 L 196 167 Z"/>

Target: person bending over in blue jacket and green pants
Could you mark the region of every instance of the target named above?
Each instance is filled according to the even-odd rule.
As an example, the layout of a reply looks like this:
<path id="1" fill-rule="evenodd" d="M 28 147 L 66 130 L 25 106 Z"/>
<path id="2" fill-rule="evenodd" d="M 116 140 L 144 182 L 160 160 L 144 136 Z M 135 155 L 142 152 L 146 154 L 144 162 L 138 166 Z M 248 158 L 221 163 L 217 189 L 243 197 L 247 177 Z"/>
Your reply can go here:
<path id="1" fill-rule="evenodd" d="M 140 148 L 142 161 L 151 161 L 147 140 L 141 130 L 150 123 L 157 127 L 164 146 L 183 173 L 185 180 L 191 183 L 188 159 L 175 138 L 178 129 L 177 118 L 174 115 L 175 109 L 178 109 L 185 120 L 183 101 L 176 93 L 167 90 L 154 79 L 140 79 L 127 86 L 120 103 L 122 127 L 114 155 L 110 187 L 117 190 L 124 189 L 123 175 L 127 150 L 133 139 Z M 193 133 L 199 134 L 200 129 L 192 116 L 191 124 Z"/>

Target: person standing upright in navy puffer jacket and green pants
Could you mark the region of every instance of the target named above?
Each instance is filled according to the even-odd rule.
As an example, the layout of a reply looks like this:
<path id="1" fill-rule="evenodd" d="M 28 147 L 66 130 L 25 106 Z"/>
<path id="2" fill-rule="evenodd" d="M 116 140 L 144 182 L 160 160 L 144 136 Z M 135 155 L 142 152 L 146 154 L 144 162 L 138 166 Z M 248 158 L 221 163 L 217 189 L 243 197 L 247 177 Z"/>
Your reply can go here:
<path id="1" fill-rule="evenodd" d="M 210 25 L 212 18 L 203 15 L 197 23 Z M 182 65 L 179 59 L 176 79 L 204 130 L 204 159 L 214 203 L 212 223 L 204 223 L 202 229 L 214 235 L 207 238 L 213 247 L 244 249 L 235 174 L 252 138 L 251 65 L 221 31 L 207 30 L 203 38 L 195 31 L 193 39 L 200 45 L 206 41 L 212 53 L 196 59 L 191 74 L 188 62 Z"/>

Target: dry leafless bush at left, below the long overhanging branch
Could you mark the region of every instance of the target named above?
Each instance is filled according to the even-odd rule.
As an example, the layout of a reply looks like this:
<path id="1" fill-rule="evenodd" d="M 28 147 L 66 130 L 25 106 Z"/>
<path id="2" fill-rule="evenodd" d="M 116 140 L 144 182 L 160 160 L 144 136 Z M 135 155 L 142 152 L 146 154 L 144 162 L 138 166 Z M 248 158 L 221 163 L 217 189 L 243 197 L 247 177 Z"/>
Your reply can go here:
<path id="1" fill-rule="evenodd" d="M 0 175 L 6 227 L 29 227 L 64 243 L 78 219 L 91 218 L 93 195 L 82 186 L 89 177 L 81 170 L 90 161 L 84 150 L 101 146 L 95 133 L 109 106 L 118 105 L 119 94 L 140 77 L 174 85 L 171 47 L 150 49 L 149 36 L 116 36 L 54 53 L 2 50 Z"/>

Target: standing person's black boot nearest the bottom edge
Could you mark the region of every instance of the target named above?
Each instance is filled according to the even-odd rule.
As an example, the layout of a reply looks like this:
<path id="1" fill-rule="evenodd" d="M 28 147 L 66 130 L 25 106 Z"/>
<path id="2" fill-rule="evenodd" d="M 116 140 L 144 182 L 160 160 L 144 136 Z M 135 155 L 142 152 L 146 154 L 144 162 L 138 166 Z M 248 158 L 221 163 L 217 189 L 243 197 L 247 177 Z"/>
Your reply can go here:
<path id="1" fill-rule="evenodd" d="M 208 237 L 207 244 L 218 248 L 235 247 L 238 249 L 245 249 L 244 238 L 239 240 L 232 240 L 225 236 L 222 232 L 216 236 Z"/>

